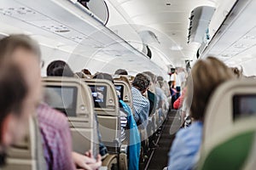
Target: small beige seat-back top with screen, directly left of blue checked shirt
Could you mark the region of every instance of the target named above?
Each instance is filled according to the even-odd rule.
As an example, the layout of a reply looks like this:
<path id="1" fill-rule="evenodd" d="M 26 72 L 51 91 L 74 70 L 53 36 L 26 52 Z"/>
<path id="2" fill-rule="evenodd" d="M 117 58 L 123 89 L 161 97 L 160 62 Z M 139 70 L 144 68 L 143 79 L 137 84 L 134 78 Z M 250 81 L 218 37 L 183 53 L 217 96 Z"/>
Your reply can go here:
<path id="1" fill-rule="evenodd" d="M 119 93 L 120 99 L 122 99 L 127 105 L 132 108 L 132 96 L 131 96 L 131 88 L 127 84 L 127 82 L 115 80 L 114 81 L 115 89 Z"/>

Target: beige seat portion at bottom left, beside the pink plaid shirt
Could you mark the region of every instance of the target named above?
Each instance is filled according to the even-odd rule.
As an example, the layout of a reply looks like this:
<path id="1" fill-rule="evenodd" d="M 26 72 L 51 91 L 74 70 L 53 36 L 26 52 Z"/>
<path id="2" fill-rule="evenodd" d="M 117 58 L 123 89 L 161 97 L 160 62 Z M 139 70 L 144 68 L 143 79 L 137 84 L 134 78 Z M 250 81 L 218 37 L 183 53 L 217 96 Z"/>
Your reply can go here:
<path id="1" fill-rule="evenodd" d="M 31 116 L 26 137 L 7 150 L 6 165 L 1 169 L 44 170 L 46 167 L 38 122 Z"/>

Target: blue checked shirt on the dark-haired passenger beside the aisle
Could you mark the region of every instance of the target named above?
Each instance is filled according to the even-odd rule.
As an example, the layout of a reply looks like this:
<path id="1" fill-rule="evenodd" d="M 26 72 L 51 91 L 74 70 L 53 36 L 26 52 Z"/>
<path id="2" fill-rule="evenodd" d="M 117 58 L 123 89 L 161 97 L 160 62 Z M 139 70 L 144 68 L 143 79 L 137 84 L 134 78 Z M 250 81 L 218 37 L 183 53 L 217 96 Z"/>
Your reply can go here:
<path id="1" fill-rule="evenodd" d="M 143 127 L 147 127 L 150 108 L 149 101 L 137 88 L 132 87 L 131 94 L 134 108 L 134 119 L 137 122 L 137 125 L 143 124 Z"/>

